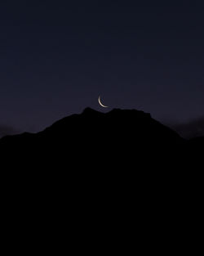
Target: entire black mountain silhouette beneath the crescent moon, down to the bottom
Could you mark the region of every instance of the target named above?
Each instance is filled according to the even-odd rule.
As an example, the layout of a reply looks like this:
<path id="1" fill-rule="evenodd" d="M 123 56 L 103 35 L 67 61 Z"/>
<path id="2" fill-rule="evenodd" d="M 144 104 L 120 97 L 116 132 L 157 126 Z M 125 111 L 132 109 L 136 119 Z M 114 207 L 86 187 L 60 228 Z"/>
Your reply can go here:
<path id="1" fill-rule="evenodd" d="M 124 245 L 127 254 L 154 251 L 158 240 L 160 249 L 184 248 L 200 222 L 202 145 L 142 111 L 87 108 L 37 134 L 2 138 L 4 209 L 17 230 L 43 230 L 43 242 L 75 249 Z"/>

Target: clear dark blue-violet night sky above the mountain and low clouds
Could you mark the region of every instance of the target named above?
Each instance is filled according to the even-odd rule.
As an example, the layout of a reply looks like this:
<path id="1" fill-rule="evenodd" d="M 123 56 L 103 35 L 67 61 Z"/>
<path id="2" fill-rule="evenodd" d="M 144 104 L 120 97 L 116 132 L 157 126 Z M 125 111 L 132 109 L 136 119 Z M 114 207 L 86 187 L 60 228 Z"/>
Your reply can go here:
<path id="1" fill-rule="evenodd" d="M 38 131 L 86 106 L 204 115 L 204 1 L 0 3 L 0 125 Z"/>

